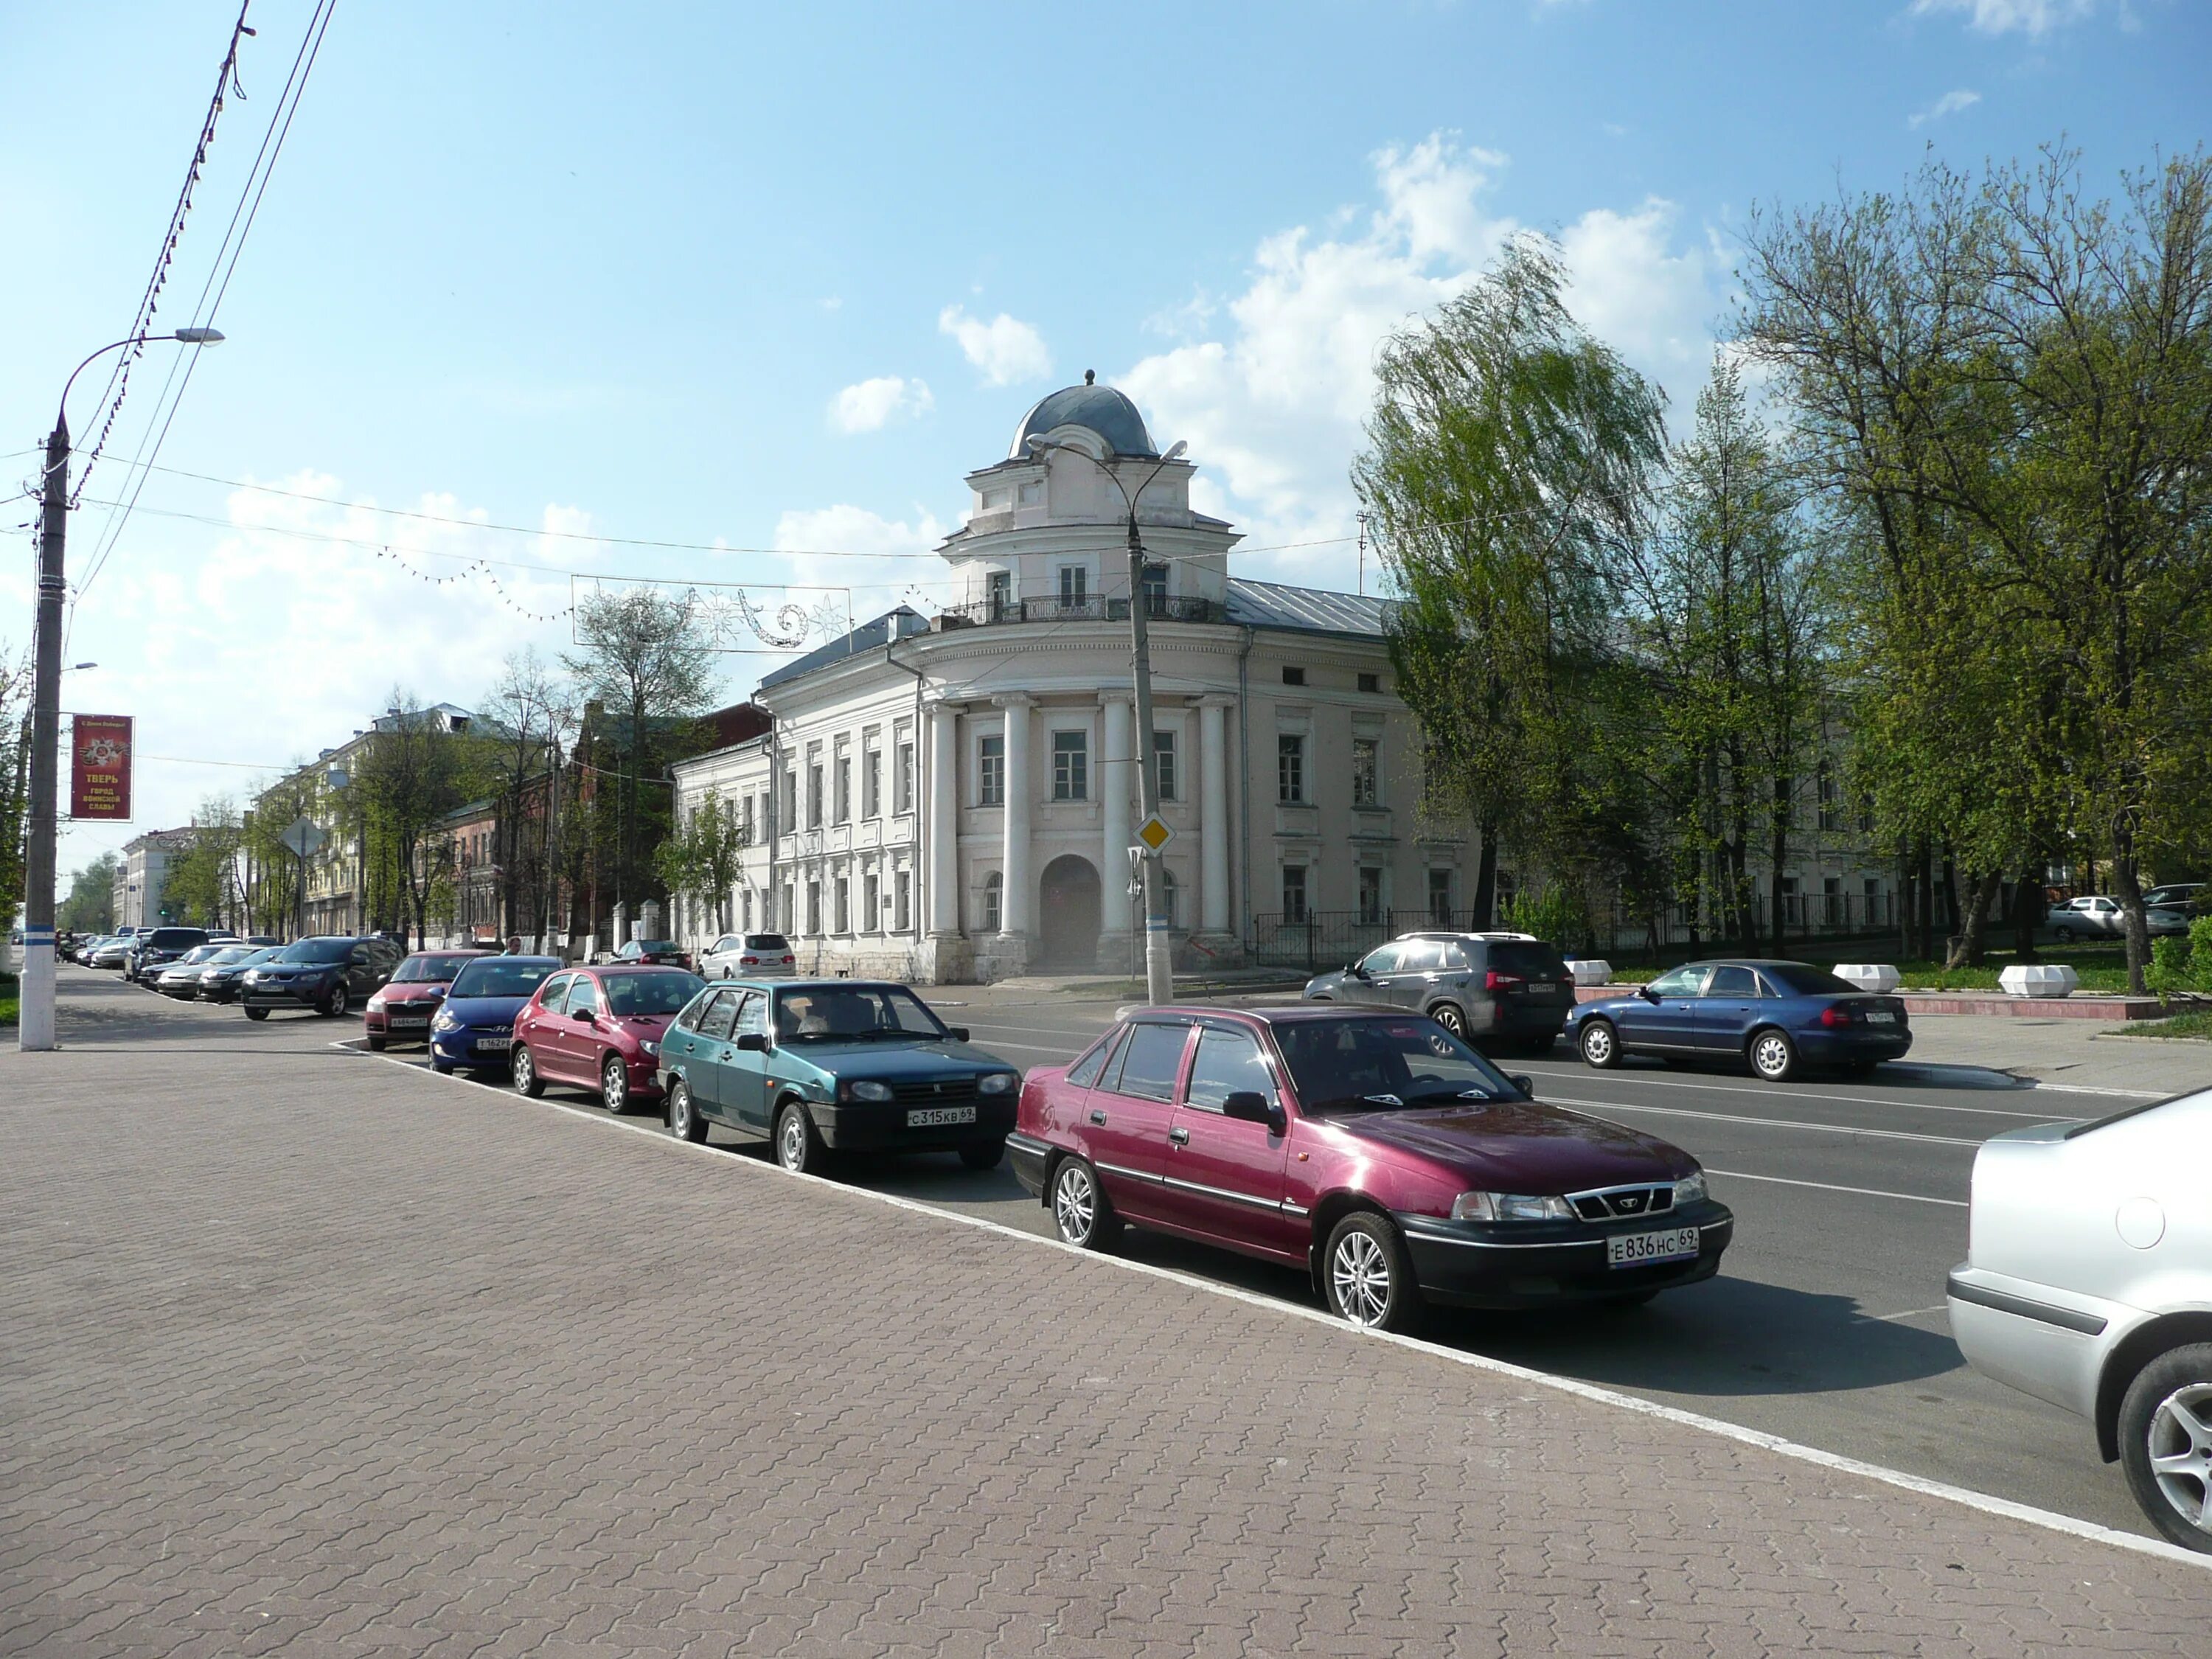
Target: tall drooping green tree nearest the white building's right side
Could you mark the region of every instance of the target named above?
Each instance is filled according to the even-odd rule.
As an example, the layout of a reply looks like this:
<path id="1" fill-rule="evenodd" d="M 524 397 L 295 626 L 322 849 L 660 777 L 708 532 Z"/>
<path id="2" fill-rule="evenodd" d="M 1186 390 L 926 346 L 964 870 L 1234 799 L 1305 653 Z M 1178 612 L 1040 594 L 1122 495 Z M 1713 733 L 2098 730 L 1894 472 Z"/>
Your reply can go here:
<path id="1" fill-rule="evenodd" d="M 1575 323 L 1564 288 L 1557 246 L 1522 237 L 1391 336 L 1352 469 L 1402 597 L 1389 644 L 1431 805 L 1480 830 L 1478 927 L 1500 849 L 1584 885 L 1644 860 L 1630 770 L 1608 754 L 1621 573 L 1666 460 L 1666 400 Z"/>

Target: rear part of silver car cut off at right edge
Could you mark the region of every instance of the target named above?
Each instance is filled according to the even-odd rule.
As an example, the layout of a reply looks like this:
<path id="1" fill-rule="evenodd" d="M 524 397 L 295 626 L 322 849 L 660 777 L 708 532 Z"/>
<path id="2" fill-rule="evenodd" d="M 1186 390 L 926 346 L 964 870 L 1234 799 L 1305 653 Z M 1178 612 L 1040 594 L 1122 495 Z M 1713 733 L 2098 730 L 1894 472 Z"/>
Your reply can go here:
<path id="1" fill-rule="evenodd" d="M 2212 1088 L 2037 1124 L 1973 1159 L 1951 1336 L 2086 1418 L 2166 1537 L 2212 1553 Z"/>

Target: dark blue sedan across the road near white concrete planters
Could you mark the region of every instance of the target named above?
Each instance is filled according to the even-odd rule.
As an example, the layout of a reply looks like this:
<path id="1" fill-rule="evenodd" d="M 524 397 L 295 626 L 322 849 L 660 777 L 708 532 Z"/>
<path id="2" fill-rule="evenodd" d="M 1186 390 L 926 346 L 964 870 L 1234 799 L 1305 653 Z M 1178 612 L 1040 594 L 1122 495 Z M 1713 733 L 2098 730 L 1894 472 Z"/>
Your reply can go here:
<path id="1" fill-rule="evenodd" d="M 1641 991 L 1584 1002 L 1566 1037 L 1599 1068 L 1624 1055 L 1743 1060 L 1770 1084 L 1805 1066 L 1849 1077 L 1913 1046 L 1898 998 L 1860 991 L 1809 962 L 1690 962 Z"/>

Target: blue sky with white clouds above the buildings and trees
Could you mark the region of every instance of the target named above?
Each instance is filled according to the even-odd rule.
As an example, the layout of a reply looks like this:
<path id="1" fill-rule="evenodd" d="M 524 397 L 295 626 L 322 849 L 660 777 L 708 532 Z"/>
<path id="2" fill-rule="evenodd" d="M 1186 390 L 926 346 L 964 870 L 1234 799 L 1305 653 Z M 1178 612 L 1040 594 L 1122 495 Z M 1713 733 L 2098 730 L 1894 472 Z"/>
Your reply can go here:
<path id="1" fill-rule="evenodd" d="M 310 11 L 252 7 L 161 325 L 188 321 Z M 77 356 L 128 325 L 232 15 L 0 7 L 0 493 Z M 394 686 L 469 703 L 507 650 L 555 653 L 564 624 L 482 573 L 420 580 L 469 557 L 544 611 L 571 571 L 849 586 L 860 615 L 929 597 L 962 473 L 1084 369 L 1190 442 L 1201 502 L 1256 549 L 1234 568 L 1352 586 L 1367 363 L 1502 234 L 1559 234 L 1584 321 L 1686 409 L 1754 204 L 2062 137 L 2112 190 L 2203 142 L 2208 62 L 2192 0 L 338 0 L 230 341 L 159 462 L 343 507 L 153 473 L 77 606 L 71 657 L 102 668 L 64 703 L 179 757 L 142 765 L 135 827 L 157 827 Z M 139 367 L 88 500 L 133 482 L 161 374 Z M 86 376 L 80 434 L 95 403 Z M 0 509 L 18 648 L 27 518 Z M 106 518 L 73 518 L 73 575 Z M 732 695 L 770 661 L 730 657 Z M 64 867 L 128 834 L 71 832 Z"/>

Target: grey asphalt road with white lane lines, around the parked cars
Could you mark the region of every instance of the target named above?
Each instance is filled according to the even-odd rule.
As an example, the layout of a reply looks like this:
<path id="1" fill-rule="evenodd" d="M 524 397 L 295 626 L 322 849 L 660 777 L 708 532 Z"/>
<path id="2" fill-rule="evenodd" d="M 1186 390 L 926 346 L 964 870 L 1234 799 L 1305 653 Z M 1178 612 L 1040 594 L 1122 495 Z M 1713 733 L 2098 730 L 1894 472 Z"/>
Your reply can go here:
<path id="1" fill-rule="evenodd" d="M 111 1026 L 181 1029 L 239 1020 L 232 1009 L 159 1004 L 113 975 L 69 975 L 69 1011 Z M 86 980 L 95 980 L 86 984 Z M 148 1006 L 155 1004 L 155 1006 Z M 1110 1004 L 947 989 L 931 1004 L 1018 1066 L 1075 1055 Z M 303 1046 L 354 1037 L 312 1015 L 270 1020 Z M 420 1051 L 385 1060 L 422 1064 Z M 1741 1071 L 1511 1060 L 1537 1095 L 1663 1135 L 1712 1172 L 1736 1212 L 1721 1274 L 1632 1312 L 1440 1314 L 1427 1336 L 1562 1376 L 1725 1418 L 1849 1458 L 2148 1533 L 2119 1471 L 2097 1460 L 2086 1425 L 1966 1369 L 1944 1318 L 1944 1272 L 1966 1256 L 1973 1148 L 2053 1115 L 2097 1115 L 2119 1102 L 2053 1097 L 1989 1073 L 1907 1068 L 1869 1082 L 1767 1086 Z M 591 1106 L 571 1091 L 564 1104 Z M 739 1157 L 765 1146 L 714 1128 Z M 843 1170 L 858 1186 L 1046 1234 L 1048 1217 L 1004 1168 L 958 1159 L 869 1159 Z M 1301 1274 L 1130 1234 L 1144 1261 L 1261 1294 L 1312 1301 Z"/>

